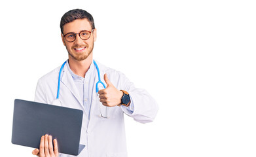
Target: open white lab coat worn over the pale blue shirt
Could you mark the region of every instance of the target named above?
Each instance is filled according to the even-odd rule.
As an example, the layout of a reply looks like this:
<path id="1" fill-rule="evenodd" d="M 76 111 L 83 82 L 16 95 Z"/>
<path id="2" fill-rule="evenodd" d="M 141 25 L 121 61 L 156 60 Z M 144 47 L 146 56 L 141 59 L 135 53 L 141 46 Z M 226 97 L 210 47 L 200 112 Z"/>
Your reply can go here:
<path id="1" fill-rule="evenodd" d="M 96 62 L 98 63 L 98 62 Z M 100 116 L 100 109 L 105 109 L 102 104 L 98 105 L 96 94 L 96 82 L 98 73 L 94 81 L 94 92 L 92 92 L 92 106 L 90 110 L 90 120 L 84 111 L 82 99 L 79 98 L 78 90 L 73 82 L 73 78 L 64 66 L 62 78 L 60 81 L 60 101 L 62 106 L 81 109 L 84 111 L 82 120 L 81 140 L 80 143 L 85 145 L 79 156 L 81 157 L 126 157 L 126 136 L 124 129 L 124 113 L 128 114 L 137 122 L 152 122 L 158 111 L 156 101 L 145 90 L 137 89 L 122 73 L 110 69 L 98 63 L 100 69 L 101 81 L 105 83 L 103 74 L 119 90 L 126 90 L 130 94 L 131 103 L 134 105 L 134 112 L 131 114 L 121 107 L 107 107 L 109 118 Z M 56 99 L 58 88 L 58 75 L 60 67 L 41 77 L 37 83 L 35 92 L 35 101 L 52 104 Z M 124 107 L 125 108 L 125 107 Z M 104 111 L 104 110 L 103 110 Z M 125 111 L 125 112 L 124 112 Z M 61 154 L 60 156 L 70 156 Z"/>

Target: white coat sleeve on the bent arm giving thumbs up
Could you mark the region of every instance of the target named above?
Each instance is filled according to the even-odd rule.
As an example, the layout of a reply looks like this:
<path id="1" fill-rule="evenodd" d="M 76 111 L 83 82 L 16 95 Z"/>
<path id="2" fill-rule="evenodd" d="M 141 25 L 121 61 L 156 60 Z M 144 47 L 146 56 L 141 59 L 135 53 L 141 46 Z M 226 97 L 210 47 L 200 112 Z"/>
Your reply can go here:
<path id="1" fill-rule="evenodd" d="M 130 108 L 122 106 L 122 111 L 137 122 L 153 122 L 158 112 L 155 99 L 146 90 L 136 88 L 122 73 L 119 74 L 119 88 L 126 90 L 131 99 Z"/>

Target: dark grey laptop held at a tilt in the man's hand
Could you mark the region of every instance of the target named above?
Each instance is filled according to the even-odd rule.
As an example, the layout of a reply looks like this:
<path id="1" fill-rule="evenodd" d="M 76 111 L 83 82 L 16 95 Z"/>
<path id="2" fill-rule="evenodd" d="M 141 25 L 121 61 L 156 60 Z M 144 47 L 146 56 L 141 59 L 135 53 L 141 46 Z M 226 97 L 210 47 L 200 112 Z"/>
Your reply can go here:
<path id="1" fill-rule="evenodd" d="M 48 134 L 57 139 L 59 152 L 77 156 L 85 147 L 79 144 L 81 127 L 81 110 L 14 100 L 13 144 L 39 148 L 41 136 Z"/>

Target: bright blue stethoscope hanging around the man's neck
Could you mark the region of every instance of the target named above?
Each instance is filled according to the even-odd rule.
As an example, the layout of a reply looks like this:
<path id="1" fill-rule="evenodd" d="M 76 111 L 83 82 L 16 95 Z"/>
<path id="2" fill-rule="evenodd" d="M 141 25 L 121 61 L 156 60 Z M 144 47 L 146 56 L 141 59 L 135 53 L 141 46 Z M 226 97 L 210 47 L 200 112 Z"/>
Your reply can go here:
<path id="1" fill-rule="evenodd" d="M 62 105 L 62 103 L 61 103 L 61 101 L 60 101 L 60 99 L 59 99 L 59 96 L 60 96 L 60 77 L 61 77 L 61 75 L 62 75 L 62 70 L 63 70 L 63 68 L 64 68 L 65 63 L 67 63 L 67 61 L 65 61 L 65 62 L 62 64 L 62 67 L 60 67 L 59 79 L 58 79 L 58 91 L 57 91 L 56 99 L 52 102 L 53 105 L 59 105 L 59 106 Z M 97 69 L 97 71 L 98 71 L 98 79 L 99 79 L 99 80 L 98 80 L 98 82 L 96 83 L 96 93 L 98 94 L 98 92 L 99 92 L 98 84 L 102 84 L 104 88 L 106 88 L 106 86 L 105 86 L 105 84 L 104 84 L 104 83 L 101 81 L 101 79 L 100 79 L 100 69 L 99 69 L 98 64 L 96 63 L 96 61 L 94 61 L 94 65 L 96 66 L 96 69 Z M 100 111 L 100 112 L 101 112 L 101 111 Z M 103 116 L 102 113 L 101 113 L 101 116 L 104 117 L 104 118 L 106 118 L 105 116 Z"/>

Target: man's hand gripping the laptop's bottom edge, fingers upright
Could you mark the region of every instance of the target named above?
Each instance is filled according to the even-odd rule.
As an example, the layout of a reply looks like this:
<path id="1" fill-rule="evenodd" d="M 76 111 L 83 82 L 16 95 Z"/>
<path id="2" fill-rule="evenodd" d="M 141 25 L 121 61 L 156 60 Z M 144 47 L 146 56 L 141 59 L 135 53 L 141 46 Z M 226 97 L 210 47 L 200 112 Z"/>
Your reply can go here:
<path id="1" fill-rule="evenodd" d="M 53 145 L 52 145 L 52 136 L 51 135 L 46 134 L 41 137 L 39 149 L 36 148 L 35 150 L 33 150 L 32 154 L 37 155 L 39 157 L 59 156 L 57 140 L 54 139 Z"/>

